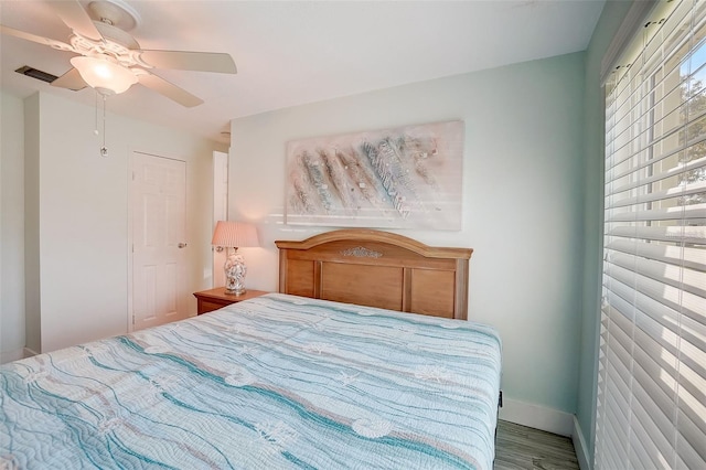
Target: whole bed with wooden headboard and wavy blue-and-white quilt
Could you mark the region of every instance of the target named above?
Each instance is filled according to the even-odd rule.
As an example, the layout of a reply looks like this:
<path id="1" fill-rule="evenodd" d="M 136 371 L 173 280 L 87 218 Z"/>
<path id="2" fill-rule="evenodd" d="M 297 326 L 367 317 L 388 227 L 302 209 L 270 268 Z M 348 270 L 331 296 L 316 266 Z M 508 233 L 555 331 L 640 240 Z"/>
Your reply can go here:
<path id="1" fill-rule="evenodd" d="M 491 469 L 500 340 L 442 318 L 466 316 L 470 253 L 403 238 L 278 242 L 280 293 L 6 364 L 0 468 Z M 330 300 L 366 266 L 400 269 L 399 308 Z M 450 303 L 415 300 L 448 293 L 421 270 Z"/>

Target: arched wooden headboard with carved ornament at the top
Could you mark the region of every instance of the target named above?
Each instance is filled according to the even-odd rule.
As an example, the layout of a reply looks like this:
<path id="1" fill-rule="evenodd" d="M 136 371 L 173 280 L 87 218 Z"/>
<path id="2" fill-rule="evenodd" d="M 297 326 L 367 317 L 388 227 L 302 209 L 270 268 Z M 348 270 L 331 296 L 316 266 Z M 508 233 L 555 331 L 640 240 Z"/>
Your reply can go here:
<path id="1" fill-rule="evenodd" d="M 363 228 L 275 244 L 282 293 L 468 319 L 470 248 Z"/>

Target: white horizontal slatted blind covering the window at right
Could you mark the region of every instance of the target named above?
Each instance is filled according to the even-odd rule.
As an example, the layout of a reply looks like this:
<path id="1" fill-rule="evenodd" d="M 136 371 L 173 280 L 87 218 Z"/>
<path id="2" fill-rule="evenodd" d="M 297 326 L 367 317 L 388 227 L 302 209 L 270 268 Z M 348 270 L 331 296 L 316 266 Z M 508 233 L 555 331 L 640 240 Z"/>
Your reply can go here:
<path id="1" fill-rule="evenodd" d="M 706 1 L 659 8 L 606 85 L 597 469 L 706 469 Z"/>

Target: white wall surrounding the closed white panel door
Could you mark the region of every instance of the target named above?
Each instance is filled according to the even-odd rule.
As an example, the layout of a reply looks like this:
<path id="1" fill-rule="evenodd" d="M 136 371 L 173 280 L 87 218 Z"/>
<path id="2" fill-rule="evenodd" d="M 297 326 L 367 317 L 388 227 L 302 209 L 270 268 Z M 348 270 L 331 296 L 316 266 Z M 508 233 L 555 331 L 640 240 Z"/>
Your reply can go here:
<path id="1" fill-rule="evenodd" d="M 26 201 L 26 213 L 38 221 L 28 224 L 28 244 L 39 253 L 40 280 L 39 286 L 26 286 L 28 306 L 41 306 L 39 332 L 34 316 L 28 313 L 28 340 L 40 342 L 35 348 L 41 351 L 35 351 L 127 332 L 132 150 L 186 161 L 186 285 L 190 292 L 208 287 L 204 273 L 211 271 L 211 259 L 199 247 L 211 242 L 211 160 L 213 150 L 223 150 L 222 146 L 108 113 L 109 157 L 103 158 L 103 137 L 93 133 L 93 107 L 46 94 L 26 102 L 25 113 L 33 114 L 28 122 L 35 132 L 31 140 L 39 142 L 39 162 L 25 175 L 39 192 L 36 201 Z M 32 239 L 36 226 L 39 237 Z M 189 301 L 190 313 L 195 314 L 192 296 Z"/>

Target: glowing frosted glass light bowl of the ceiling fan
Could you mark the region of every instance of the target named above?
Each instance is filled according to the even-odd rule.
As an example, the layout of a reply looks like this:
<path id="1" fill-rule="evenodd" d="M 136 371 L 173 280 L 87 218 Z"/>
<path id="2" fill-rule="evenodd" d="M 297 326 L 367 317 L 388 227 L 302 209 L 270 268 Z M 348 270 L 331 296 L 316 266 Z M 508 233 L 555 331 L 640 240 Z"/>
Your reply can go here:
<path id="1" fill-rule="evenodd" d="M 103 95 L 118 95 L 137 83 L 137 76 L 129 68 L 108 58 L 76 56 L 71 64 L 84 82 Z"/>

